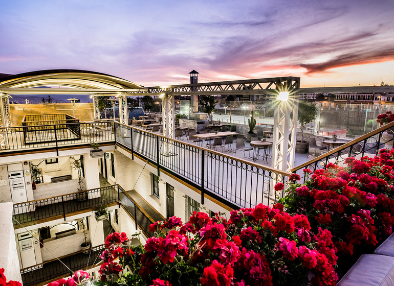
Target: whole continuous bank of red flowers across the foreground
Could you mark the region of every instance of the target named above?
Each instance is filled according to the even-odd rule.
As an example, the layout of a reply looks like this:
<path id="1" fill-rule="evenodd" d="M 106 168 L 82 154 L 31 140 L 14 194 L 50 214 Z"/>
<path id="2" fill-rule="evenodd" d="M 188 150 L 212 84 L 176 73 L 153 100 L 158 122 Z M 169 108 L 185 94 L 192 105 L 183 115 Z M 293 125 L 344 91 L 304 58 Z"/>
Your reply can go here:
<path id="1" fill-rule="evenodd" d="M 304 184 L 293 174 L 287 196 L 273 208 L 233 210 L 228 220 L 194 212 L 187 223 L 171 217 L 151 224 L 156 235 L 144 246 L 112 233 L 100 255 L 100 280 L 80 272 L 82 279 L 49 286 L 335 285 L 337 261 L 376 247 L 394 225 L 394 150 L 347 158 L 345 165 L 304 169 Z"/>

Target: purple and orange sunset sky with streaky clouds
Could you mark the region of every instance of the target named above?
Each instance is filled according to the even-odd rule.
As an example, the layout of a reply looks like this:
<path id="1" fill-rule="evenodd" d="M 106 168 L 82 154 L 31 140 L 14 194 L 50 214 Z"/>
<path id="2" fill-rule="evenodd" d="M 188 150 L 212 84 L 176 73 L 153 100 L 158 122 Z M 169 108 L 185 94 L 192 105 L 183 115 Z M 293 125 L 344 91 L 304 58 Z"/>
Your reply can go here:
<path id="1" fill-rule="evenodd" d="M 0 0 L 0 73 L 72 68 L 144 86 L 278 76 L 394 84 L 393 0 Z"/>

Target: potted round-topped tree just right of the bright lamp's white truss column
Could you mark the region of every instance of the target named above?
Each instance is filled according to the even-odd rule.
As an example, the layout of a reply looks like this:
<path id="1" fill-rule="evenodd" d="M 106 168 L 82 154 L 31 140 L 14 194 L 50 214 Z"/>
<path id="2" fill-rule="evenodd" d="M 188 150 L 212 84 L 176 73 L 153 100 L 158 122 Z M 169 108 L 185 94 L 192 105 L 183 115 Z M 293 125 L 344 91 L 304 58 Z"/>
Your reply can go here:
<path id="1" fill-rule="evenodd" d="M 308 103 L 304 100 L 298 103 L 298 122 L 300 123 L 301 140 L 296 141 L 297 153 L 307 153 L 308 141 L 304 140 L 304 127 L 315 119 L 316 112 L 316 104 Z"/>

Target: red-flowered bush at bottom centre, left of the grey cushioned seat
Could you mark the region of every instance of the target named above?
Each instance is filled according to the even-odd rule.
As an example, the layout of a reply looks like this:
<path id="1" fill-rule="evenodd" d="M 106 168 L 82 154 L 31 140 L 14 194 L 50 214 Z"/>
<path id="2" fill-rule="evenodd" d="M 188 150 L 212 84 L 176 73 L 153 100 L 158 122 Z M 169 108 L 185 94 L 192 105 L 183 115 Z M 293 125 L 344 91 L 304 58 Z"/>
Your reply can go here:
<path id="1" fill-rule="evenodd" d="M 156 235 L 137 247 L 125 233 L 108 235 L 101 281 L 94 284 L 335 285 L 337 280 L 330 231 L 311 232 L 307 217 L 290 216 L 281 205 L 234 210 L 229 220 L 194 212 L 186 224 L 171 217 L 150 231 Z"/>

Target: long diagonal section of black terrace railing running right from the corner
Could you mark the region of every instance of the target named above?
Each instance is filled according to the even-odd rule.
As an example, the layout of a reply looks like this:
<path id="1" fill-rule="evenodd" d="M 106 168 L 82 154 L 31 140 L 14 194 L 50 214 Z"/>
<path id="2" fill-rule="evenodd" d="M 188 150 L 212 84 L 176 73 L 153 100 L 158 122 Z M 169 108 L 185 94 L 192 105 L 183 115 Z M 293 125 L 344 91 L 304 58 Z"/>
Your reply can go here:
<path id="1" fill-rule="evenodd" d="M 233 208 L 276 202 L 273 185 L 290 173 L 187 144 L 142 129 L 116 124 L 116 143 Z M 279 194 L 280 196 L 282 194 Z"/>

